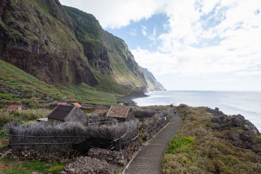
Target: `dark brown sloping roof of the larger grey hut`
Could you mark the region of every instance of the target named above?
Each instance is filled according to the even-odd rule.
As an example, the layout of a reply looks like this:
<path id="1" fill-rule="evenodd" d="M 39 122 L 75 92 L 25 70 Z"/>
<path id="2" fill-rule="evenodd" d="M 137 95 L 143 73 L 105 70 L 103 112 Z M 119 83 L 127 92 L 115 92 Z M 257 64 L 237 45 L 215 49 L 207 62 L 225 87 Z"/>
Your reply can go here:
<path id="1" fill-rule="evenodd" d="M 71 112 L 71 110 L 77 106 L 70 105 L 58 105 L 49 115 L 48 118 L 57 119 L 63 121 L 65 117 Z"/>

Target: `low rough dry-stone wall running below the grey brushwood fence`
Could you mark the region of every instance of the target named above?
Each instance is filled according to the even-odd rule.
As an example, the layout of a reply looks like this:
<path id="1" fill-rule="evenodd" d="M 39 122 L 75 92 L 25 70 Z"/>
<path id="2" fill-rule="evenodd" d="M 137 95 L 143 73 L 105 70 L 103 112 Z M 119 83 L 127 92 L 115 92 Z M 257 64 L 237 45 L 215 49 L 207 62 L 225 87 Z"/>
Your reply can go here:
<path id="1" fill-rule="evenodd" d="M 35 150 L 31 151 L 24 151 L 24 152 L 13 152 L 13 149 L 9 147 L 3 147 L 0 149 L 0 156 L 4 154 L 6 151 L 10 150 L 7 154 L 7 158 L 17 158 L 19 160 L 39 160 L 44 161 L 47 163 L 52 162 L 73 162 L 73 158 L 79 156 L 88 156 L 91 158 L 98 158 L 101 160 L 105 160 L 108 163 L 118 164 L 121 166 L 125 166 L 131 157 L 133 156 L 134 152 L 137 151 L 142 146 L 141 138 L 135 139 L 131 144 L 129 144 L 125 149 L 122 149 L 118 152 L 111 151 L 108 149 L 100 149 L 100 148 L 91 148 L 88 153 L 80 153 L 73 149 L 68 149 L 63 152 L 56 152 L 56 153 L 45 153 L 39 152 Z"/>

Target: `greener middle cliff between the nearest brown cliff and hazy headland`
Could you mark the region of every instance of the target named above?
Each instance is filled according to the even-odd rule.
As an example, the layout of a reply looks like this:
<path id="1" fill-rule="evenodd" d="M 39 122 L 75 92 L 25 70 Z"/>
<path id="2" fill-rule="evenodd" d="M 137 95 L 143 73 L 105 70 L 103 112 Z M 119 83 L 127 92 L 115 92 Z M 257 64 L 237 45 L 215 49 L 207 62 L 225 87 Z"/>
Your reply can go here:
<path id="1" fill-rule="evenodd" d="M 90 66 L 119 84 L 146 92 L 145 77 L 124 40 L 103 30 L 92 14 L 73 7 L 64 8 L 76 22 L 75 36 L 83 45 Z"/>

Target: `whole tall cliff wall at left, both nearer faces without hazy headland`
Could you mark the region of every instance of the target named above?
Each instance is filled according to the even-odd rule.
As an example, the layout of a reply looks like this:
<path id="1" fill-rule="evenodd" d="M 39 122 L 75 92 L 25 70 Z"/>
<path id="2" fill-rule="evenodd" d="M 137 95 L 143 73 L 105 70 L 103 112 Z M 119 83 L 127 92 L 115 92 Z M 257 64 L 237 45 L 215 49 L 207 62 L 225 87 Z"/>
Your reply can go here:
<path id="1" fill-rule="evenodd" d="M 0 59 L 54 86 L 111 80 L 147 91 L 125 42 L 58 0 L 0 1 Z"/>

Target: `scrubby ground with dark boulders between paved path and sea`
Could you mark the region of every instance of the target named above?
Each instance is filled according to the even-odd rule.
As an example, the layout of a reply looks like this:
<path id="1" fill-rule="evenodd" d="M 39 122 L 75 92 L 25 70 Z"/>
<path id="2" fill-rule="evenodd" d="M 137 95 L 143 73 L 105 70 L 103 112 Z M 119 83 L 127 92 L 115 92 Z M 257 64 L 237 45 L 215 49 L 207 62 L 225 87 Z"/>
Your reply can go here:
<path id="1" fill-rule="evenodd" d="M 261 134 L 241 115 L 176 107 L 180 128 L 162 160 L 163 173 L 260 173 Z"/>

